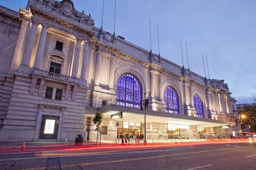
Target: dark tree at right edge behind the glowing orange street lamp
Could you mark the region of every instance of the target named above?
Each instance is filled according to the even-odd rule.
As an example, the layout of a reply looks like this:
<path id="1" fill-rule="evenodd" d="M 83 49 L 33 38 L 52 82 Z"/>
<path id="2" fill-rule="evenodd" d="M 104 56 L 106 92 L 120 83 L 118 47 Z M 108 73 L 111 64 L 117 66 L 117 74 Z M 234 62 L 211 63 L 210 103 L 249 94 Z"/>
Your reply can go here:
<path id="1" fill-rule="evenodd" d="M 248 127 L 252 132 L 256 132 L 256 105 L 244 106 L 239 115 L 245 115 L 242 128 Z"/>

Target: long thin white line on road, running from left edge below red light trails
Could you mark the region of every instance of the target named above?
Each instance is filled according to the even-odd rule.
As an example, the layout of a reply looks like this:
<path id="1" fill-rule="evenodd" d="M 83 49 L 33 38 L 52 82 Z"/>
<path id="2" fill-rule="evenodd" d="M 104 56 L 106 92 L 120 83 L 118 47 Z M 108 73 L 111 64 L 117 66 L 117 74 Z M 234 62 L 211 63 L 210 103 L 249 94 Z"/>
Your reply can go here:
<path id="1" fill-rule="evenodd" d="M 161 149 L 161 150 L 153 150 L 153 151 L 132 151 L 132 152 L 120 152 L 120 153 L 100 153 L 100 154 L 88 154 L 88 155 L 67 155 L 67 156 L 56 156 L 57 157 L 81 157 L 81 156 L 94 156 L 94 155 L 117 155 L 117 154 L 125 154 L 125 153 L 141 153 L 141 152 L 156 152 L 156 151 L 169 151 L 183 148 L 175 148 L 175 149 Z M 21 159 L 43 159 L 48 157 L 33 157 L 33 158 L 15 158 L 15 159 L 0 159 L 0 161 L 12 161 L 12 160 L 21 160 Z"/>

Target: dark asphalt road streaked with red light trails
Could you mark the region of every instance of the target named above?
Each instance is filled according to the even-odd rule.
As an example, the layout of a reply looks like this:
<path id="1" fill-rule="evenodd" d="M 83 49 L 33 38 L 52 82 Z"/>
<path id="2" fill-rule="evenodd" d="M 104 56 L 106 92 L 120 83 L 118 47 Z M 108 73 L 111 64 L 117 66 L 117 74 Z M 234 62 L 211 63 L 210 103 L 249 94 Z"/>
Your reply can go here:
<path id="1" fill-rule="evenodd" d="M 0 151 L 0 170 L 256 170 L 256 141 Z"/>

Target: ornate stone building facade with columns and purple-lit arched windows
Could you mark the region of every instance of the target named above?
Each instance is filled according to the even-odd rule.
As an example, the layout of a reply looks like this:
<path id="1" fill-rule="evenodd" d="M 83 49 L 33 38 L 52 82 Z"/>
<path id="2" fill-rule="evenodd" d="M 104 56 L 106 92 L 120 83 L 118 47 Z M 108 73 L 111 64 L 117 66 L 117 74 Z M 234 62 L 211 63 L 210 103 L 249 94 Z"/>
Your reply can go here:
<path id="1" fill-rule="evenodd" d="M 0 40 L 1 142 L 95 140 L 96 112 L 103 140 L 144 132 L 144 113 L 148 139 L 237 131 L 223 80 L 95 27 L 71 0 L 28 0 L 18 12 L 0 6 Z M 149 110 L 141 111 L 145 98 Z"/>

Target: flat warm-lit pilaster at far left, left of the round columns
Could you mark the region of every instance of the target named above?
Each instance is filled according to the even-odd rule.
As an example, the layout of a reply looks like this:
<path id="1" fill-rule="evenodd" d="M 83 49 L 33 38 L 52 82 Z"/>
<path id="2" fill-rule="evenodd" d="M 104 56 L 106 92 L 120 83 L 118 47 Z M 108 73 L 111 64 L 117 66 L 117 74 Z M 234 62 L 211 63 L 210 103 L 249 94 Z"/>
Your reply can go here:
<path id="1" fill-rule="evenodd" d="M 12 58 L 12 65 L 11 65 L 12 70 L 17 70 L 19 68 L 19 65 L 21 64 L 21 59 L 23 58 L 24 48 L 26 45 L 25 40 L 27 37 L 27 32 L 29 31 L 29 27 L 30 27 L 29 24 L 30 24 L 29 21 L 22 20 L 21 22 L 21 28 L 19 30 L 17 44 L 16 44 L 15 51 Z"/>

